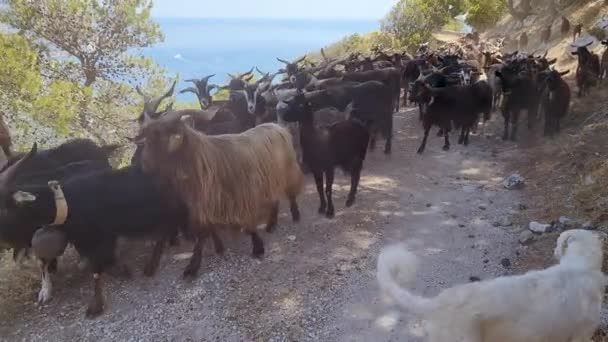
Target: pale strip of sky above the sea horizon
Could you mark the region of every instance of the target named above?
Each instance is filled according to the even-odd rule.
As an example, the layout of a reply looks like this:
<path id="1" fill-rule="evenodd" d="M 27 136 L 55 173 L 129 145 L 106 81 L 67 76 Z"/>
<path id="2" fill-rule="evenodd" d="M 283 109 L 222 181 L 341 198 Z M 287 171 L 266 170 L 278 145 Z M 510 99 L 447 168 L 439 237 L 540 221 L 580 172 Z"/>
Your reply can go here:
<path id="1" fill-rule="evenodd" d="M 155 17 L 381 19 L 397 0 L 154 0 Z"/>

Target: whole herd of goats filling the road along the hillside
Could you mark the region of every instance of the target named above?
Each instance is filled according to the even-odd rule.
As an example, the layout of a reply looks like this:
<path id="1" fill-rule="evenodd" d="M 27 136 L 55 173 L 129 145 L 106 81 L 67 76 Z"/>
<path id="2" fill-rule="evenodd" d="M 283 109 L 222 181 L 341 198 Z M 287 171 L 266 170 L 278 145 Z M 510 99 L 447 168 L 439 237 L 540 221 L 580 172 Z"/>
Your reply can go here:
<path id="1" fill-rule="evenodd" d="M 283 69 L 260 72 L 255 82 L 253 69 L 231 75 L 224 87 L 209 83 L 213 75 L 189 80 L 194 86 L 182 92 L 194 93 L 200 110 L 160 109 L 175 83 L 159 97 L 137 88 L 144 108 L 130 166 L 113 169 L 108 158 L 117 146 L 83 139 L 44 151 L 34 144 L 27 153 L 9 155 L 0 172 L 1 245 L 13 249 L 15 259 L 33 251 L 41 268 L 40 303 L 51 298 L 57 258 L 73 245 L 93 274 L 88 316 L 103 310 L 102 275 L 120 264 L 119 237 L 155 239 L 147 276 L 178 236 L 194 243 L 187 277 L 197 273 L 208 237 L 216 253 L 224 251 L 223 230 L 248 234 L 259 257 L 264 243 L 257 227 L 275 228 L 279 201 L 289 201 L 292 219 L 300 219 L 303 170 L 314 176 L 320 214 L 334 216 L 336 167 L 351 177 L 346 206 L 353 205 L 377 136 L 391 153 L 393 115 L 402 105 L 419 106 L 424 138 L 418 153 L 433 126 L 445 150 L 454 129 L 467 145 L 479 121 L 497 109 L 504 116 L 504 139 L 515 140 L 522 113 L 530 127 L 544 118 L 544 133 L 558 132 L 570 102 L 562 79 L 568 71 L 554 70 L 556 61 L 546 54 L 502 54 L 502 48 L 502 39 L 480 41 L 470 34 L 436 50 L 423 44 L 413 56 L 377 49 L 368 57 L 323 54 L 318 64 L 280 60 Z M 574 54 L 584 95 L 603 76 L 599 57 L 586 46 Z M 284 80 L 273 82 L 279 74 Z M 218 88 L 229 91 L 228 100 L 213 101 Z"/>

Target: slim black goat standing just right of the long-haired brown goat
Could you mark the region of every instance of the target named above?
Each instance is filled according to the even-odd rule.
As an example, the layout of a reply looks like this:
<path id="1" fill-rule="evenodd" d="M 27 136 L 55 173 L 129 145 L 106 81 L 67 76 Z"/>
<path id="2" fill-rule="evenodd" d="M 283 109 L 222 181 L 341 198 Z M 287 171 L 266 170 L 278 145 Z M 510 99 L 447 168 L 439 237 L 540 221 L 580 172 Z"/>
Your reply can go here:
<path id="1" fill-rule="evenodd" d="M 341 167 L 350 173 L 351 187 L 346 206 L 355 203 L 361 169 L 369 143 L 369 131 L 358 120 L 345 120 L 329 127 L 315 127 L 310 102 L 303 94 L 296 95 L 283 106 L 281 113 L 287 122 L 300 123 L 300 141 L 304 163 L 310 168 L 317 185 L 321 205 L 319 213 L 334 216 L 332 186 L 334 170 Z M 323 194 L 325 175 L 325 194 Z"/>

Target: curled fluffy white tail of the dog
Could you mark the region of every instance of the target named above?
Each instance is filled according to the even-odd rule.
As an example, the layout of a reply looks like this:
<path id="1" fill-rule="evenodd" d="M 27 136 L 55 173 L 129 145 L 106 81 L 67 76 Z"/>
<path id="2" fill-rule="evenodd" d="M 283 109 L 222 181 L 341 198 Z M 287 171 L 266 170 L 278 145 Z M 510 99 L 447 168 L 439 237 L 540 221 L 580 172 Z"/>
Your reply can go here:
<path id="1" fill-rule="evenodd" d="M 425 315 L 435 309 L 433 299 L 417 296 L 401 287 L 397 279 L 410 283 L 416 276 L 418 259 L 404 245 L 385 247 L 378 256 L 376 278 L 380 289 L 388 293 L 399 306 L 417 315 Z"/>

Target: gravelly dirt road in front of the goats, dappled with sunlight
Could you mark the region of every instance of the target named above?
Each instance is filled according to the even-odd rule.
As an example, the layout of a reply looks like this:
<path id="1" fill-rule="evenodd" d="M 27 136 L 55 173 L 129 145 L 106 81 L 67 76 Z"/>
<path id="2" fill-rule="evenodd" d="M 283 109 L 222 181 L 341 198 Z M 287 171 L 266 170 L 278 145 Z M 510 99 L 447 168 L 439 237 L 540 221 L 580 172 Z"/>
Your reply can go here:
<path id="1" fill-rule="evenodd" d="M 285 206 L 280 226 L 263 235 L 266 256 L 249 256 L 249 239 L 224 237 L 228 252 L 207 246 L 200 276 L 181 279 L 183 253 L 170 249 L 156 277 L 143 277 L 149 247 L 131 248 L 133 280 L 108 277 L 106 313 L 84 318 L 90 276 L 74 258 L 60 261 L 53 300 L 34 304 L 36 275 L 0 269 L 0 338 L 10 341 L 417 341 L 416 321 L 385 305 L 375 282 L 381 246 L 405 241 L 421 256 L 415 291 L 433 295 L 471 276 L 509 272 L 516 228 L 507 218 L 517 193 L 502 189 L 501 152 L 495 137 L 472 138 L 468 148 L 441 151 L 431 138 L 415 153 L 421 130 L 413 110 L 395 119 L 393 155 L 380 150 L 365 163 L 357 203 L 345 209 L 349 181 L 339 175 L 336 218 L 316 213 L 318 197 L 309 179 L 301 200 L 302 222 Z M 455 141 L 454 141 L 455 143 Z M 145 253 L 142 253 L 145 251 Z"/>

